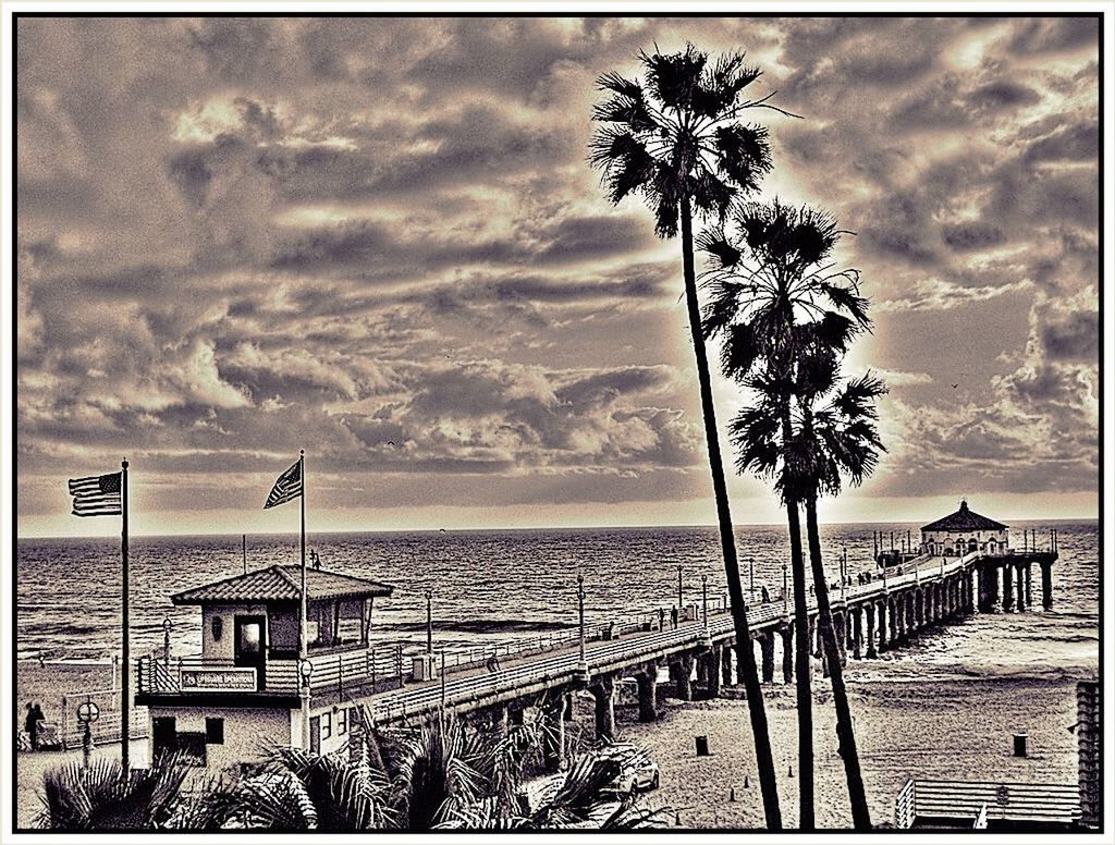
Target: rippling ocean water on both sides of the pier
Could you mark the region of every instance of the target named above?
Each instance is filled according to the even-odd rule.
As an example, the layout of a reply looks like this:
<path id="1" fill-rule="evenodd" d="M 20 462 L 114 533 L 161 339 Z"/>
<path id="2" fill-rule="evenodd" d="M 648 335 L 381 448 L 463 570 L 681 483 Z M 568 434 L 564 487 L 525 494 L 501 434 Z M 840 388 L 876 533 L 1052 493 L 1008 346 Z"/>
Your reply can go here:
<path id="1" fill-rule="evenodd" d="M 982 614 L 923 632 L 909 648 L 872 661 L 867 679 L 901 678 L 927 668 L 941 676 L 1092 674 L 1098 666 L 1098 525 L 1090 522 L 1012 523 L 1011 543 L 1024 530 L 1059 531 L 1060 559 L 1054 566 L 1054 608 L 1022 614 Z M 895 543 L 918 526 L 833 524 L 822 526 L 831 577 L 846 550 L 854 574 L 872 567 L 872 533 L 894 532 Z M 789 544 L 785 526 L 737 528 L 743 586 L 754 570 L 756 592 L 777 594 Z M 534 632 L 574 628 L 576 575 L 585 580 L 591 622 L 657 615 L 677 600 L 678 566 L 687 602 L 701 601 L 701 575 L 710 601 L 726 594 L 715 527 L 570 528 L 546 531 L 443 531 L 313 534 L 327 569 L 395 585 L 376 601 L 377 643 L 425 638 L 425 591 L 434 591 L 435 639 L 473 645 Z M 250 569 L 298 561 L 298 537 L 250 536 Z M 119 651 L 119 541 L 105 538 L 19 540 L 17 544 L 17 648 L 20 658 L 104 659 Z M 133 537 L 132 650 L 163 643 L 163 620 L 172 622 L 172 653 L 201 650 L 201 612 L 175 608 L 169 595 L 242 572 L 241 537 Z M 1040 604 L 1039 570 L 1034 570 Z"/>

